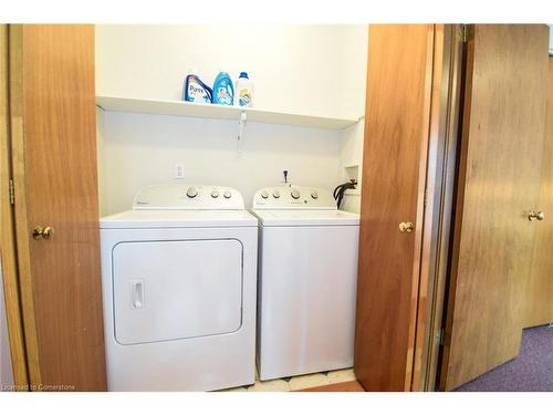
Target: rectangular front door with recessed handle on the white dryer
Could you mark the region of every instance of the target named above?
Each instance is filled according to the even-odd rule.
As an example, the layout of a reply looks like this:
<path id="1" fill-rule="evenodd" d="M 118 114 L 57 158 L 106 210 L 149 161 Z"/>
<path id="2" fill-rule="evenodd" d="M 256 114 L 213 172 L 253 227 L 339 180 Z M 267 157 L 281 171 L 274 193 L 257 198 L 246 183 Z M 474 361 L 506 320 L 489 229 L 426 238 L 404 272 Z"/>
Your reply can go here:
<path id="1" fill-rule="evenodd" d="M 112 255 L 118 343 L 160 342 L 240 329 L 240 241 L 121 242 Z"/>

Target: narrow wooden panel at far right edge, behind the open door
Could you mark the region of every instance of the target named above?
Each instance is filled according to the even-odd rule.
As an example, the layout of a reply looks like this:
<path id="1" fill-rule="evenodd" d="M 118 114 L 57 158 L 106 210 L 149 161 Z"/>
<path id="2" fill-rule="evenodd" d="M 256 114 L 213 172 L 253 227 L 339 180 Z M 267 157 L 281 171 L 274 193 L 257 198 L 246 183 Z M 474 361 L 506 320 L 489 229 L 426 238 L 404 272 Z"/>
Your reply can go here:
<path id="1" fill-rule="evenodd" d="M 524 326 L 553 322 L 553 58 L 549 59 L 547 126 L 543 143 L 540 203 Z"/>

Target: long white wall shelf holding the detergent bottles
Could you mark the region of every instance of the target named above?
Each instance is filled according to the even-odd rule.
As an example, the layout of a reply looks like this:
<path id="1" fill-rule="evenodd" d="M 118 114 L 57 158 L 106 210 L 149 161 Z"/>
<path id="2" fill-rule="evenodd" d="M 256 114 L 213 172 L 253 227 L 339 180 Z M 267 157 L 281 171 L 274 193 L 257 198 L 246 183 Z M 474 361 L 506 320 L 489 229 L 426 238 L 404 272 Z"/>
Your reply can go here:
<path id="1" fill-rule="evenodd" d="M 285 124 L 313 128 L 343 129 L 358 122 L 349 118 L 328 118 L 322 116 L 292 114 L 260 108 L 226 106 L 217 104 L 196 104 L 185 101 L 137 100 L 117 96 L 96 96 L 96 105 L 105 111 L 177 115 L 215 120 L 240 120 L 246 112 L 248 122 Z"/>

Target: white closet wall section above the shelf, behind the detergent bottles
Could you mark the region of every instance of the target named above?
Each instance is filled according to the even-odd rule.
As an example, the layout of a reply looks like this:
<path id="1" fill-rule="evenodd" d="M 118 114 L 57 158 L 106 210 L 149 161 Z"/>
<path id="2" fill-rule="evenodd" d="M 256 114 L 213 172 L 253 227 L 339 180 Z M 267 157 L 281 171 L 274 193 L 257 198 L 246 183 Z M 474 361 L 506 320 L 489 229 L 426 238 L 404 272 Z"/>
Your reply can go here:
<path id="1" fill-rule="evenodd" d="M 248 71 L 257 106 L 361 116 L 365 68 L 355 63 L 366 59 L 366 32 L 344 24 L 96 25 L 96 91 L 179 100 L 191 70 L 208 84 L 219 70 L 233 79 Z"/>

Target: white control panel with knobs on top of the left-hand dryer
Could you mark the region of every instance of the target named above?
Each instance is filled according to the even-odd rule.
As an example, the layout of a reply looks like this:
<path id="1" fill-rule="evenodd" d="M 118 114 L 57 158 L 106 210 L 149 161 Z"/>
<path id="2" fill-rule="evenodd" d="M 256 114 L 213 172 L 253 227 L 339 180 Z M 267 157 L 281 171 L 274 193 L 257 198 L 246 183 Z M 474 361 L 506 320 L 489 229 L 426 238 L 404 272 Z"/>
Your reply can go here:
<path id="1" fill-rule="evenodd" d="M 166 184 L 138 190 L 133 209 L 241 210 L 242 195 L 226 186 Z"/>

